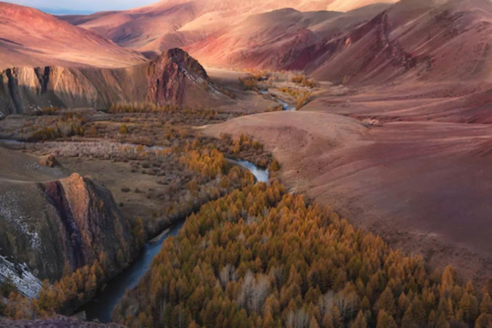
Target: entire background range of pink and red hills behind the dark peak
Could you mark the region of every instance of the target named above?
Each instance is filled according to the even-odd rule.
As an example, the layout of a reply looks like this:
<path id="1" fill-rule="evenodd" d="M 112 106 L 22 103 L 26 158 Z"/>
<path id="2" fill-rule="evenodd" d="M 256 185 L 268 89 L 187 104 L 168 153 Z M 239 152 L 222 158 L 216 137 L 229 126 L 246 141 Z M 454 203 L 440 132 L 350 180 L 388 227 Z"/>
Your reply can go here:
<path id="1" fill-rule="evenodd" d="M 352 85 L 489 79 L 489 0 L 393 2 L 170 0 L 64 19 L 148 56 L 179 46 L 215 67 Z"/>

